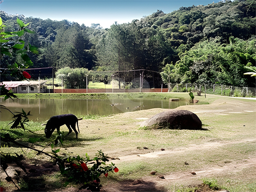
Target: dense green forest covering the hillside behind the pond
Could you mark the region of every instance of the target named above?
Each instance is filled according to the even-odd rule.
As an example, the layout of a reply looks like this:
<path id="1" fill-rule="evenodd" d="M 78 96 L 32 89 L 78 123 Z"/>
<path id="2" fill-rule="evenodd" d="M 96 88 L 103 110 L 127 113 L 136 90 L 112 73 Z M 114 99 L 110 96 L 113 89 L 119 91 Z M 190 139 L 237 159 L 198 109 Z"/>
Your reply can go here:
<path id="1" fill-rule="evenodd" d="M 171 83 L 255 87 L 255 78 L 243 75 L 248 72 L 245 66 L 255 66 L 256 62 L 255 6 L 255 0 L 235 0 L 181 7 L 168 14 L 158 10 L 107 29 L 99 24 L 87 27 L 68 20 L 24 18 L 4 11 L 0 16 L 5 31 L 19 29 L 17 17 L 24 23 L 31 22 L 28 28 L 36 33 L 25 34 L 25 39 L 38 47 L 38 54 L 29 54 L 31 68 L 162 72 L 168 64 Z M 10 59 L 6 55 L 1 58 L 1 68 L 8 68 L 15 60 L 19 57 Z M 135 73 L 125 75 L 127 79 L 135 78 Z M 152 73 L 144 75 L 155 78 Z M 1 75 L 1 81 L 4 78 Z M 111 79 L 111 75 L 104 78 Z"/>

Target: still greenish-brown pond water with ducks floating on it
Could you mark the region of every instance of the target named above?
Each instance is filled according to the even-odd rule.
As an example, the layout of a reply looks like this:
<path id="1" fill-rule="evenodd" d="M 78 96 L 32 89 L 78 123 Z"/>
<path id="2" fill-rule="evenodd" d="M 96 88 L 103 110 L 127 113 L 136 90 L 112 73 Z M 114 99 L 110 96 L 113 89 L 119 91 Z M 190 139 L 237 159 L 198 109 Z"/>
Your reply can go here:
<path id="1" fill-rule="evenodd" d="M 33 121 L 46 121 L 59 114 L 72 113 L 79 115 L 110 115 L 152 108 L 173 109 L 186 105 L 186 101 L 169 102 L 152 99 L 7 99 L 0 98 L 4 105 L 12 112 L 22 112 L 22 109 L 31 116 Z M 0 120 L 9 121 L 13 115 L 6 109 L 1 109 Z"/>

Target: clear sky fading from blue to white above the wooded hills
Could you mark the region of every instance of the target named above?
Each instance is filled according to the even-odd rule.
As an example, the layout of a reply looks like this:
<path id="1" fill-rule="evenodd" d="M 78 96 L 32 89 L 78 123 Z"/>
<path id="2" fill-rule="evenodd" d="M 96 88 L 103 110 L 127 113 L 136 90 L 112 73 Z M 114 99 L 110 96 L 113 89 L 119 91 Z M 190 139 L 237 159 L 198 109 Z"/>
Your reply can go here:
<path id="1" fill-rule="evenodd" d="M 110 28 L 117 22 L 131 23 L 157 10 L 171 13 L 180 7 L 208 5 L 214 0 L 3 0 L 0 10 L 9 15 L 20 14 L 51 20 L 69 20 L 84 24 L 99 23 Z M 218 3 L 220 0 L 215 0 Z"/>

